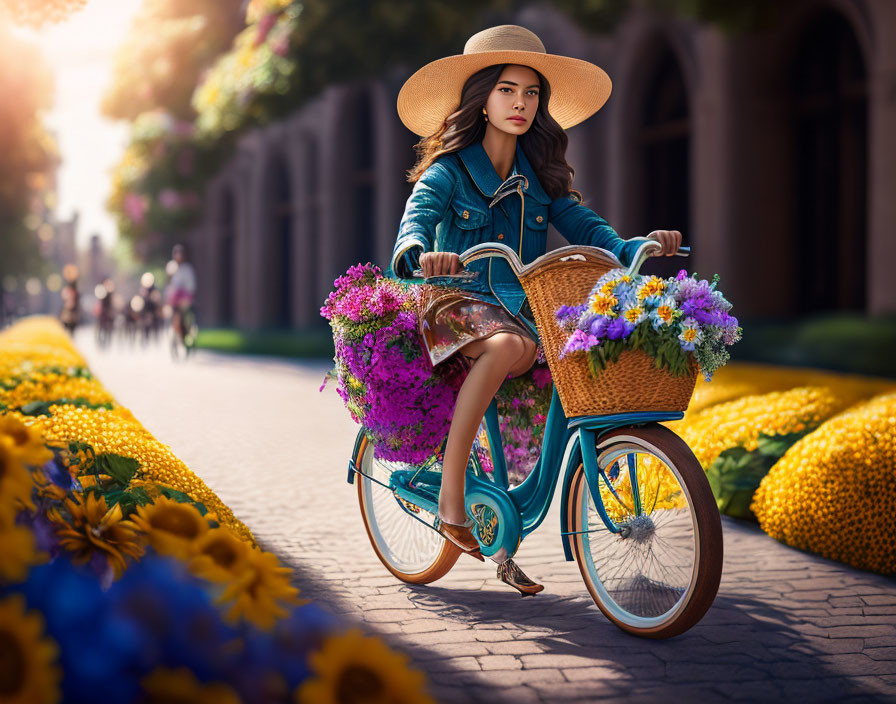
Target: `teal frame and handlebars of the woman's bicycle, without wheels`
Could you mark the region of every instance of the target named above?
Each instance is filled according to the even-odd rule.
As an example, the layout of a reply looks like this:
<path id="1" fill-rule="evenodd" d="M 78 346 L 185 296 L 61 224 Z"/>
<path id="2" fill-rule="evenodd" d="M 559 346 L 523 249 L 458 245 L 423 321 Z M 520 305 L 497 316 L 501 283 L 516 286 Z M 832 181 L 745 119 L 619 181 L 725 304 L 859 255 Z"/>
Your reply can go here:
<path id="1" fill-rule="evenodd" d="M 655 245 L 653 241 L 649 242 Z M 569 249 L 580 251 L 583 248 L 571 247 Z M 636 255 L 629 271 L 637 271 L 647 256 L 646 251 L 647 245 L 645 244 Z M 686 252 L 688 248 L 682 247 L 681 251 Z M 461 259 L 467 263 L 486 256 L 504 256 L 515 266 L 511 255 L 515 258 L 513 250 L 504 245 L 485 244 L 467 250 L 461 255 Z M 537 334 L 535 327 L 531 324 L 530 327 Z M 499 563 L 513 557 L 522 539 L 538 528 L 547 516 L 557 480 L 561 471 L 564 470 L 561 506 L 568 505 L 572 479 L 579 464 L 583 465 L 589 491 L 601 520 L 608 530 L 614 533 L 619 532 L 619 526 L 607 515 L 599 487 L 603 482 L 609 491 L 614 491 L 608 472 L 612 474 L 613 471 L 618 471 L 616 459 L 625 453 L 623 451 L 614 453 L 615 456 L 601 456 L 599 460 L 597 446 L 600 437 L 616 428 L 679 420 L 682 417 L 684 414 L 681 412 L 630 412 L 567 418 L 555 387 L 545 422 L 544 440 L 535 467 L 521 484 L 510 487 L 498 422 L 497 403 L 492 400 L 485 413 L 484 421 L 491 449 L 493 472 L 489 476 L 483 470 L 478 454 L 474 450 L 471 453 L 465 478 L 467 513 L 476 522 L 474 533 L 479 540 L 482 554 Z M 350 484 L 354 483 L 355 474 L 360 473 L 356 461 L 363 437 L 364 430 L 362 429 L 355 442 L 352 459 L 349 461 L 348 482 Z M 641 509 L 638 482 L 635 476 L 636 463 L 629 461 L 627 466 L 630 468 L 634 509 L 638 515 Z M 430 525 L 409 509 L 407 504 L 438 515 L 441 477 L 441 472 L 427 469 L 427 465 L 410 467 L 392 472 L 389 484 L 383 484 L 383 486 L 391 490 L 397 499 L 401 499 L 398 503 L 408 515 Z M 368 478 L 371 481 L 377 481 Z M 382 482 L 377 483 L 382 484 Z M 564 556 L 567 560 L 572 560 L 573 533 L 569 530 L 568 512 L 565 510 L 560 512 L 560 535 Z"/>

